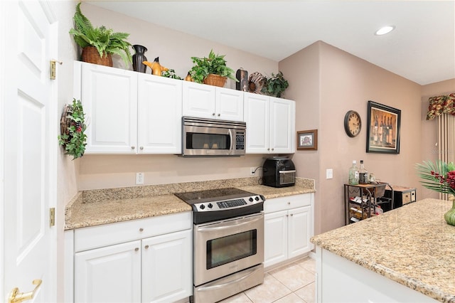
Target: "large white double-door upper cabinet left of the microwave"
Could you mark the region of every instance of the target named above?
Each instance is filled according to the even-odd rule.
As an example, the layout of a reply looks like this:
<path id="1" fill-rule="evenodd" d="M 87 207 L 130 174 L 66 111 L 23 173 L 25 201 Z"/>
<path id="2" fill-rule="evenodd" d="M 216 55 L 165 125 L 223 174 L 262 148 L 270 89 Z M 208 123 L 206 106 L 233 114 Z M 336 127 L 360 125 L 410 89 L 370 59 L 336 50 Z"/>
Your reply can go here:
<path id="1" fill-rule="evenodd" d="M 181 80 L 75 61 L 86 154 L 180 154 Z"/>

